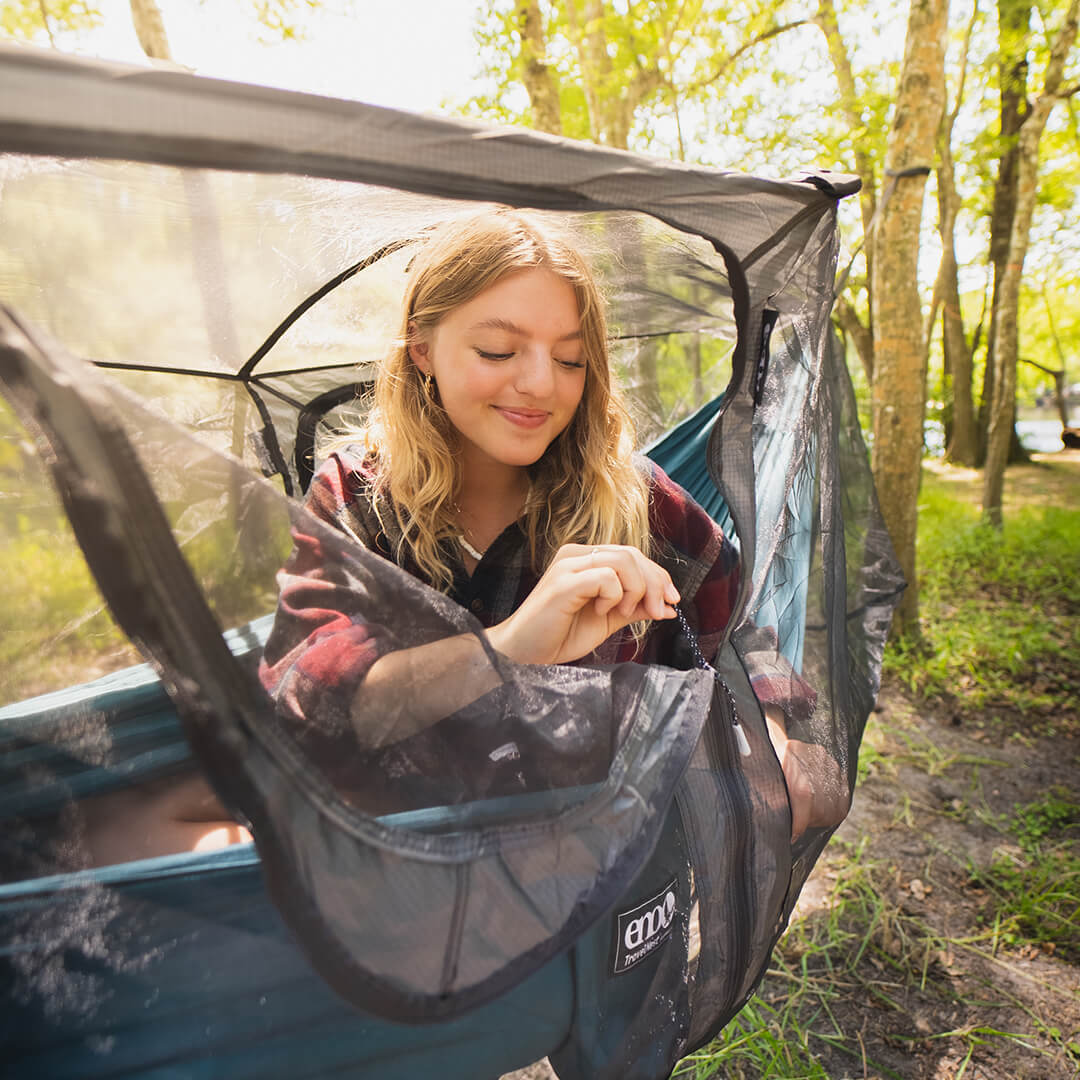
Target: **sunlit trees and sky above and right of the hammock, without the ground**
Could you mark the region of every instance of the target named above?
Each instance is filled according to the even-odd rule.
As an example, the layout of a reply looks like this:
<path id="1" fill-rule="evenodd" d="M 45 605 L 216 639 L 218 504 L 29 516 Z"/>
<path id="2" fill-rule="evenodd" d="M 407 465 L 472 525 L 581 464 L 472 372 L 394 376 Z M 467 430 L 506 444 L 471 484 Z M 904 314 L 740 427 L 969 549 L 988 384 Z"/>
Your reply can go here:
<path id="1" fill-rule="evenodd" d="M 443 5 L 438 29 L 445 32 L 447 11 L 458 23 L 471 15 L 469 60 L 432 53 L 430 31 L 426 52 L 416 19 L 397 24 L 396 67 L 406 85 L 430 83 L 437 67 L 460 72 L 442 107 L 482 120 L 765 175 L 808 166 L 858 174 L 862 191 L 842 204 L 836 320 L 866 405 L 887 523 L 912 583 L 897 617 L 912 635 L 926 421 L 946 460 L 983 469 L 983 511 L 1000 524 L 1004 468 L 1023 456 L 1017 406 L 1053 402 L 1063 423 L 1080 407 L 1080 380 L 1070 382 L 1068 370 L 1080 335 L 1078 306 L 1069 302 L 1078 274 L 1069 239 L 1080 214 L 1077 6 L 455 3 Z M 190 33 L 226 13 L 261 37 L 279 75 L 288 69 L 279 57 L 342 37 L 320 18 L 337 18 L 337 28 L 342 19 L 388 18 L 382 6 L 348 0 L 3 0 L 0 32 L 66 49 L 97 41 L 100 50 L 105 24 L 122 23 L 147 55 L 198 66 L 200 38 L 185 39 L 191 56 L 174 55 L 166 23 Z M 355 67 L 370 66 L 370 55 L 357 56 Z M 340 52 L 334 59 L 350 67 Z M 228 57 L 217 63 L 225 73 Z M 303 78 L 302 69 L 289 71 Z M 342 73 L 339 93 L 349 87 Z"/>

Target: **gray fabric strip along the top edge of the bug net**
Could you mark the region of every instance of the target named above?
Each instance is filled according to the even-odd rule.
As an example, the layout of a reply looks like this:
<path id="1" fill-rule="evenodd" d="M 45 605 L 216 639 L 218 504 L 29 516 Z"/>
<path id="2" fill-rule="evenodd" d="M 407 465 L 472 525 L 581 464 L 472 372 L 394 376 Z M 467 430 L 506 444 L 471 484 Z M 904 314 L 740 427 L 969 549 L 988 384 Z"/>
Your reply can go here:
<path id="1" fill-rule="evenodd" d="M 825 192 L 535 132 L 14 46 L 0 49 L 0 148 L 302 173 L 537 208 L 636 208 L 740 258 L 804 207 L 827 213 L 854 190 L 848 176 L 821 174 Z M 720 217 L 724 204 L 732 208 Z M 744 218 L 733 211 L 751 204 Z"/>

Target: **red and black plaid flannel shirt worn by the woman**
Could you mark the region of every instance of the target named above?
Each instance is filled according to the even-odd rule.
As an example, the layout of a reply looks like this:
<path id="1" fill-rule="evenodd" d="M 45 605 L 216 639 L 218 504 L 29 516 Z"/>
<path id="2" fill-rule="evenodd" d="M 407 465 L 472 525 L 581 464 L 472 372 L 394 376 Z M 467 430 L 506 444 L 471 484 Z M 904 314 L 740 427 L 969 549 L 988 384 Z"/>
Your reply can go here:
<path id="1" fill-rule="evenodd" d="M 738 553 L 678 484 L 648 459 L 639 461 L 648 475 L 653 557 L 671 575 L 701 651 L 712 658 L 739 591 Z M 400 543 L 400 534 L 393 535 L 397 526 L 389 497 L 376 492 L 373 482 L 369 465 L 360 457 L 349 451 L 332 455 L 312 481 L 307 507 L 388 559 L 401 552 L 402 568 L 427 581 L 407 544 Z M 377 500 L 382 500 L 380 507 Z M 319 540 L 301 528 L 295 528 L 293 536 L 293 553 L 279 575 L 278 615 L 260 676 L 279 708 L 294 718 L 320 716 L 325 723 L 335 717 L 343 725 L 357 686 L 383 651 L 379 627 L 365 619 L 363 596 L 354 588 L 342 588 L 324 565 Z M 472 575 L 456 542 L 447 542 L 445 555 L 454 570 L 449 596 L 484 626 L 507 619 L 538 581 L 526 536 L 516 523 L 496 538 Z M 779 704 L 789 716 L 807 715 L 813 691 L 770 648 L 768 632 L 758 637 L 755 651 L 751 676 L 759 700 Z M 689 644 L 675 620 L 651 623 L 640 642 L 621 631 L 579 663 L 631 660 L 684 670 L 693 666 Z"/>

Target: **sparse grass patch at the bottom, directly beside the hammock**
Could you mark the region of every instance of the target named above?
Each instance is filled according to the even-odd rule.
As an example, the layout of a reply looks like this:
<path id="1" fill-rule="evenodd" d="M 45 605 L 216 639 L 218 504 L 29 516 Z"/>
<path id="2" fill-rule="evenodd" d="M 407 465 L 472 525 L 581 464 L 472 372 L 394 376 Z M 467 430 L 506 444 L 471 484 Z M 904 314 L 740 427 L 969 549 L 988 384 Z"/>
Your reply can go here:
<path id="1" fill-rule="evenodd" d="M 996 985 L 985 987 L 991 996 L 981 999 L 977 990 L 958 989 L 951 977 L 957 954 L 989 957 L 1016 942 L 1005 942 L 1000 927 L 997 937 L 990 927 L 963 937 L 939 933 L 912 909 L 895 865 L 873 853 L 869 837 L 858 843 L 834 840 L 834 846 L 842 856 L 832 860 L 823 906 L 793 921 L 757 996 L 708 1047 L 685 1058 L 675 1078 L 827 1080 L 833 1074 L 826 1069 L 826 1051 L 834 1063 L 837 1056 L 845 1059 L 846 1075 L 852 1077 L 908 1076 L 875 1059 L 845 1008 L 852 1000 L 894 1017 L 886 1041 L 901 1054 L 916 1043 L 948 1042 L 955 1059 L 948 1075 L 958 1080 L 976 1051 L 995 1041 L 1013 1043 L 1031 1056 L 1048 1055 L 1029 1034 L 991 1022 L 948 1022 L 957 1007 L 990 1015 L 1003 1003 L 1017 1004 L 1003 1002 Z M 909 1020 L 916 1010 L 913 1034 Z M 1050 1017 L 1031 1012 L 1029 1018 L 1050 1045 L 1080 1064 L 1077 1049 Z"/>

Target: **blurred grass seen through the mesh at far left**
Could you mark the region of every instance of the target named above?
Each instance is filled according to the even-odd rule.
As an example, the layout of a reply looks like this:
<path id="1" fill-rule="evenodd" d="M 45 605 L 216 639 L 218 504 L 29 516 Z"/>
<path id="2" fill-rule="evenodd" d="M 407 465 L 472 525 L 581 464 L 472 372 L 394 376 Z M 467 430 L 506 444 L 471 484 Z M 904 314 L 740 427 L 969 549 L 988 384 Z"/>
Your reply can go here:
<path id="1" fill-rule="evenodd" d="M 287 517 L 205 465 L 154 475 L 186 558 L 219 621 L 274 609 Z M 254 492 L 254 494 L 253 494 Z M 137 663 L 90 572 L 40 457 L 0 401 L 0 705 Z"/>

